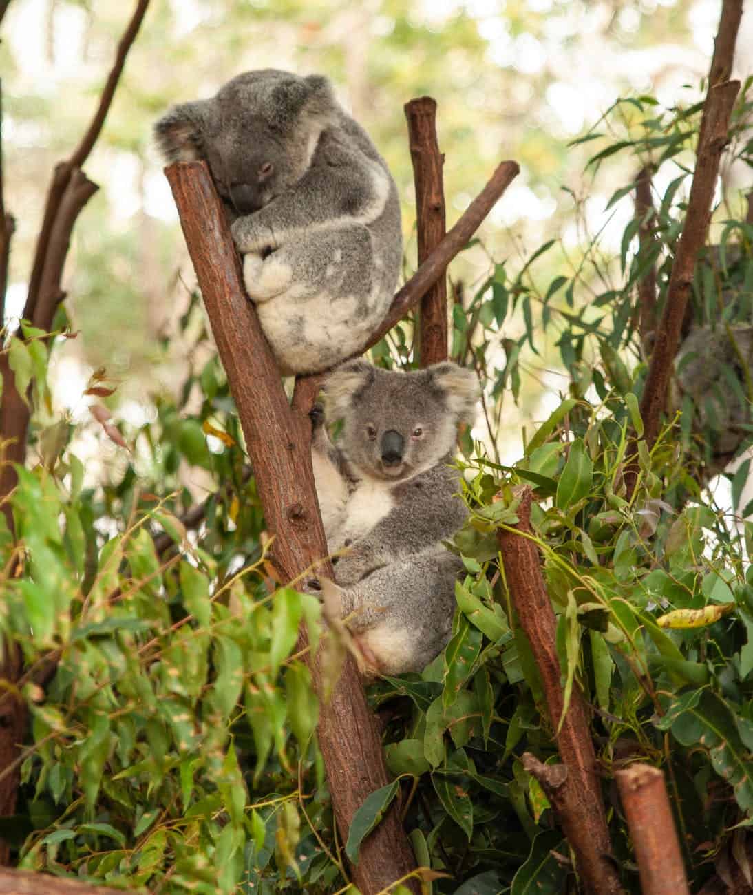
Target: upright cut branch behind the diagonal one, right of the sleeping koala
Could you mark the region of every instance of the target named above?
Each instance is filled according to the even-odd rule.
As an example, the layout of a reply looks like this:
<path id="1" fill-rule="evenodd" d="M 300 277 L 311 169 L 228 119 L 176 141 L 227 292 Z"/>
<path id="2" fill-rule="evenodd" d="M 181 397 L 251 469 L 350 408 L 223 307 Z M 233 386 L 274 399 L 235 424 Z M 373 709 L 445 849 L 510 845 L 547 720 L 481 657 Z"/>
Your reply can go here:
<path id="1" fill-rule="evenodd" d="M 431 97 L 411 99 L 405 104 L 408 120 L 410 160 L 416 189 L 416 224 L 419 264 L 427 260 L 445 234 L 444 155 L 436 139 L 436 101 Z M 421 299 L 419 313 L 419 359 L 422 367 L 447 360 L 447 278 L 436 280 Z"/>

